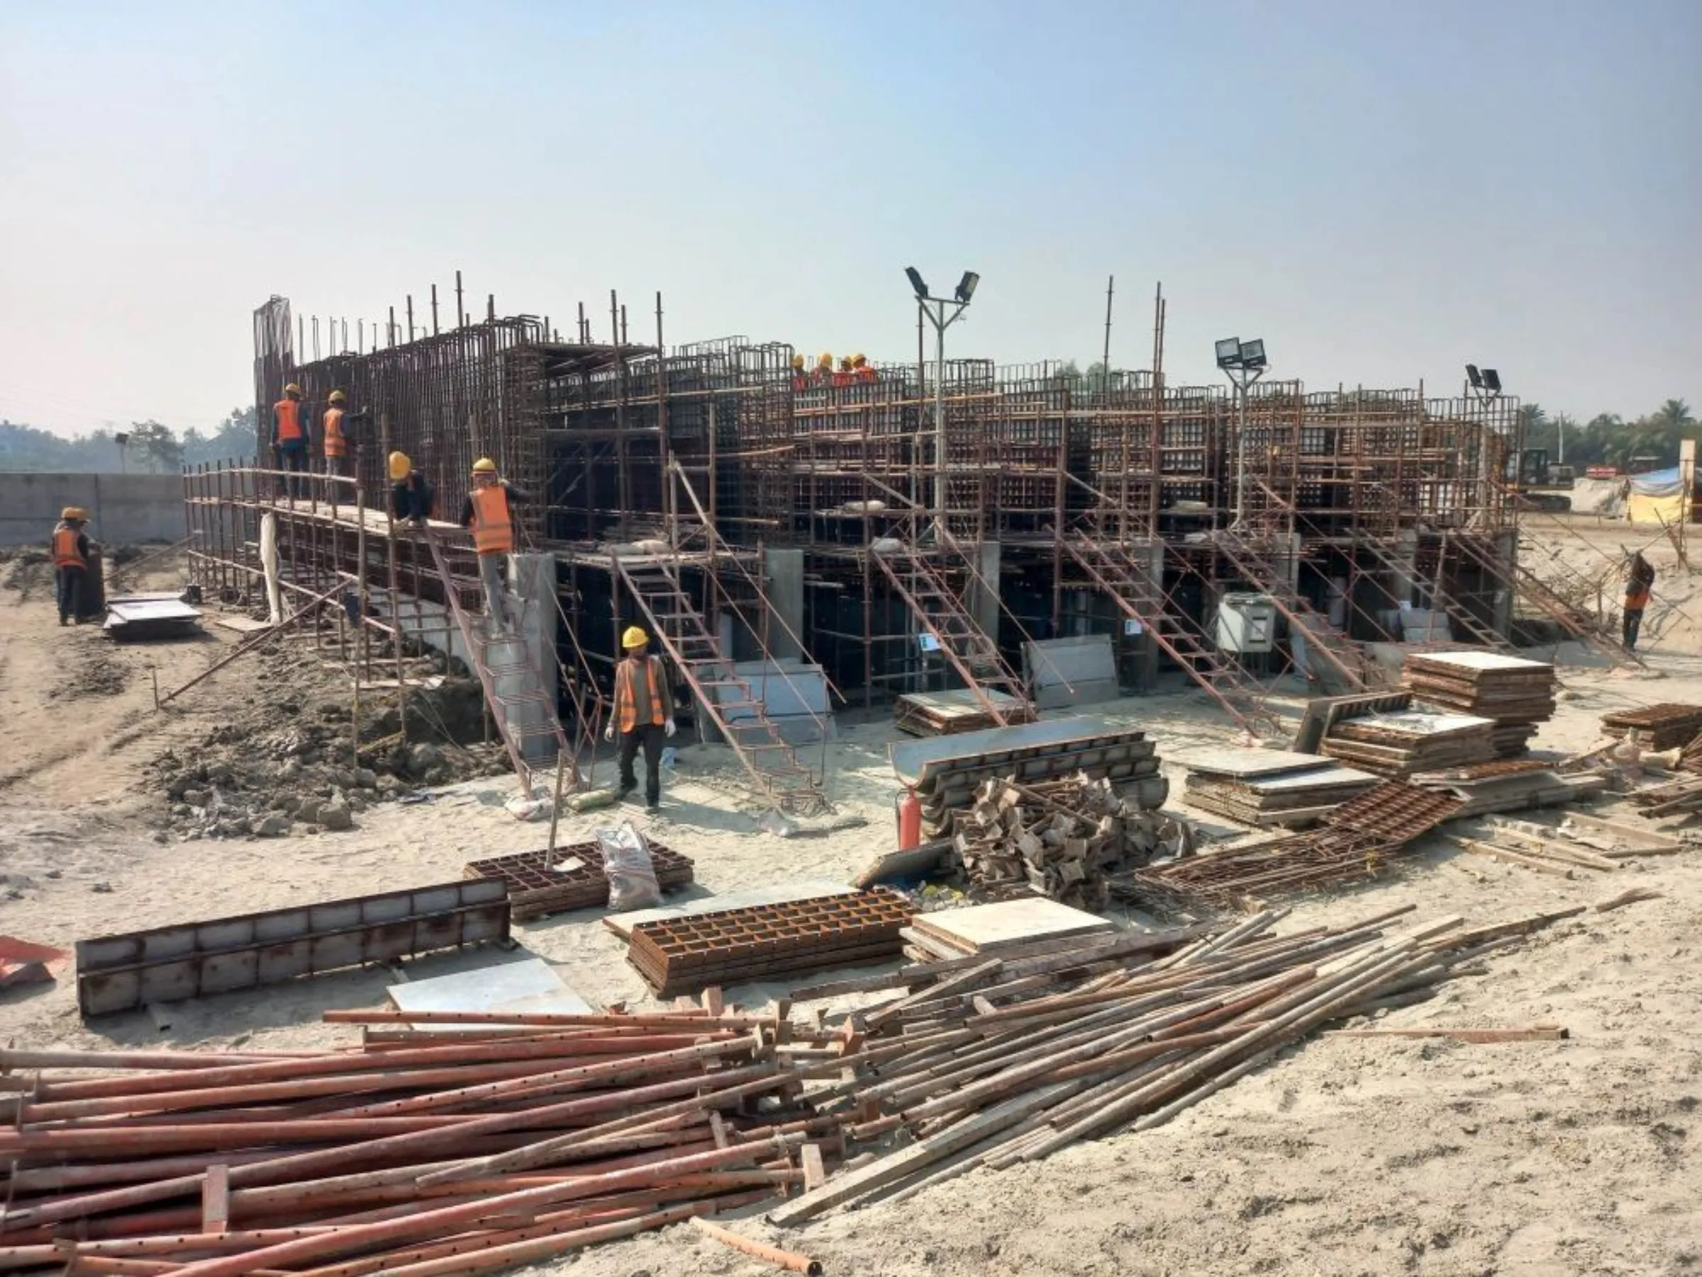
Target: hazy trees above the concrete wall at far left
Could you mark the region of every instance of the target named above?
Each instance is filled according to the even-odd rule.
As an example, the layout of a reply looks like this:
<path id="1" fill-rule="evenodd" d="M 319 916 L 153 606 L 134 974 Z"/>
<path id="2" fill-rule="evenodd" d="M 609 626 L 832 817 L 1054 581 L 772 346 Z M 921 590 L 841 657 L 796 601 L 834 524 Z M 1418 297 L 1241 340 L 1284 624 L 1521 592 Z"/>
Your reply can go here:
<path id="1" fill-rule="evenodd" d="M 119 444 L 119 436 L 124 443 Z M 66 439 L 12 421 L 0 421 L 0 470 L 49 470 L 116 475 L 172 475 L 186 465 L 254 460 L 254 409 L 231 409 L 211 434 L 194 426 L 177 434 L 157 421 L 128 429 L 99 429 Z"/>

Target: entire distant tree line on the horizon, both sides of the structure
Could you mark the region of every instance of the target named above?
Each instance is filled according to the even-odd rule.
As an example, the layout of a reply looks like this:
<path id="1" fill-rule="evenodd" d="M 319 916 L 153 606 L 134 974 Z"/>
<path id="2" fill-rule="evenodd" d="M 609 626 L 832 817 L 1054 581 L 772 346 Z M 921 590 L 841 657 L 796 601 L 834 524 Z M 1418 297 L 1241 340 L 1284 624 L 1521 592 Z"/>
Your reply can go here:
<path id="1" fill-rule="evenodd" d="M 1074 361 L 1060 364 L 1052 375 L 1065 385 L 1094 387 L 1103 376 L 1103 366 L 1093 363 L 1086 371 Z M 1125 373 L 1111 371 L 1117 387 Z M 1525 404 L 1518 410 L 1525 426 L 1525 446 L 1545 448 L 1551 461 L 1562 456 L 1579 472 L 1591 465 L 1627 468 L 1632 458 L 1653 456 L 1656 468 L 1678 465 L 1678 441 L 1697 431 L 1697 419 L 1682 398 L 1670 398 L 1654 412 L 1625 421 L 1615 412 L 1603 412 L 1583 426 L 1564 412 L 1549 415 L 1540 404 Z M 126 434 L 119 448 L 117 436 Z M 170 426 L 157 421 L 134 422 L 128 431 L 100 429 L 66 439 L 32 426 L 0 421 L 0 470 L 60 470 L 73 473 L 172 473 L 179 467 L 208 461 L 254 460 L 254 409 L 231 409 L 213 434 L 189 427 L 182 438 Z"/>

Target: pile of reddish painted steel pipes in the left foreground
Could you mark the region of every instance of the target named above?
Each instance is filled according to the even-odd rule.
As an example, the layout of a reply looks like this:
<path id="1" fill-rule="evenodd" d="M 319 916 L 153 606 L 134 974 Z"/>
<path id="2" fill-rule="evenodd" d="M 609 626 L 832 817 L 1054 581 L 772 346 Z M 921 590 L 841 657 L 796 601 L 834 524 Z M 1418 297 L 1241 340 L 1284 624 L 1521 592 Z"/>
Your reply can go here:
<path id="1" fill-rule="evenodd" d="M 0 1268 L 487 1272 L 785 1195 L 834 1125 L 774 1054 L 783 1022 L 718 1005 L 327 1018 L 402 1027 L 300 1054 L 0 1052 Z"/>

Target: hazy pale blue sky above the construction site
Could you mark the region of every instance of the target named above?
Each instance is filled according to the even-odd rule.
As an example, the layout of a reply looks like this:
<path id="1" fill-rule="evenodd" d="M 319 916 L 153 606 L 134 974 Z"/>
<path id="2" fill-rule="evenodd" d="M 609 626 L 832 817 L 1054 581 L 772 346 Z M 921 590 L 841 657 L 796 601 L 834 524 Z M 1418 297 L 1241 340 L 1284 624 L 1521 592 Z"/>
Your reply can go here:
<path id="1" fill-rule="evenodd" d="M 1702 407 L 1702 2 L 0 0 L 0 417 L 208 427 L 254 308 Z M 449 303 L 453 313 L 453 301 Z"/>

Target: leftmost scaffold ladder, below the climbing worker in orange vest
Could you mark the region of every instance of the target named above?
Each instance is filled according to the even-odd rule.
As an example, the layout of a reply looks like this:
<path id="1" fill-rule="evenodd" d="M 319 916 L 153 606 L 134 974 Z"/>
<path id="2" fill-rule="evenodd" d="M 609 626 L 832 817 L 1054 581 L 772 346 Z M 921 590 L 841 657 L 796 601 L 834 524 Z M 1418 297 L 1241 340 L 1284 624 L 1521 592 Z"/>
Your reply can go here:
<path id="1" fill-rule="evenodd" d="M 497 736 L 502 737 L 502 747 L 509 754 L 521 790 L 533 797 L 540 771 L 553 768 L 558 759 L 567 764 L 565 778 L 577 787 L 579 751 L 567 739 L 555 696 L 526 650 L 526 638 L 517 633 L 490 633 L 492 621 L 477 615 L 483 598 L 477 564 L 471 574 L 458 572 L 437 533 L 427 531 L 426 541 L 431 545 L 432 564 L 443 581 L 444 603 L 449 604 L 449 615 L 461 633 L 468 664 L 485 691 L 485 705 L 490 707 Z M 509 606 L 517 611 L 519 599 L 511 598 Z M 545 659 L 553 661 L 555 654 Z M 594 715 L 580 713 L 579 730 L 580 744 L 589 746 L 591 732 L 596 730 Z"/>

